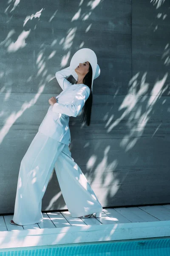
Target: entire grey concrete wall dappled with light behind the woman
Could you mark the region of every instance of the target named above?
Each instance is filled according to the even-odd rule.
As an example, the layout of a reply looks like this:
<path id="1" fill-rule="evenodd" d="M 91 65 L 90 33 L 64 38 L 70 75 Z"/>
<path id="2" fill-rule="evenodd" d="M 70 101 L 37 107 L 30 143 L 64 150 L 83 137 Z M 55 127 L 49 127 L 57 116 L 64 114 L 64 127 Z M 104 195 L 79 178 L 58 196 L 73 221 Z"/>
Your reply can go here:
<path id="1" fill-rule="evenodd" d="M 82 47 L 101 75 L 91 126 L 70 118 L 72 157 L 103 207 L 170 203 L 169 9 L 168 0 L 2 1 L 0 213 L 14 212 L 20 161 L 61 92 L 55 72 Z M 59 209 L 53 172 L 42 210 Z"/>

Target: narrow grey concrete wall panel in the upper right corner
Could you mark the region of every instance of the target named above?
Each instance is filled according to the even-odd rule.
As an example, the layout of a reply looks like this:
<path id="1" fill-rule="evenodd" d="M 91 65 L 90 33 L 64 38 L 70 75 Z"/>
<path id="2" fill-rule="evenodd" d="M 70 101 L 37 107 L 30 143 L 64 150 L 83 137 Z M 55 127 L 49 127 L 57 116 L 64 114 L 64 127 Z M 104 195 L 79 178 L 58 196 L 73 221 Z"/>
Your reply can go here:
<path id="1" fill-rule="evenodd" d="M 169 95 L 170 89 L 170 1 L 138 1 L 132 4 L 132 70 L 136 83 L 133 94 L 153 93 L 161 81 Z M 141 80 L 148 83 L 140 90 Z"/>

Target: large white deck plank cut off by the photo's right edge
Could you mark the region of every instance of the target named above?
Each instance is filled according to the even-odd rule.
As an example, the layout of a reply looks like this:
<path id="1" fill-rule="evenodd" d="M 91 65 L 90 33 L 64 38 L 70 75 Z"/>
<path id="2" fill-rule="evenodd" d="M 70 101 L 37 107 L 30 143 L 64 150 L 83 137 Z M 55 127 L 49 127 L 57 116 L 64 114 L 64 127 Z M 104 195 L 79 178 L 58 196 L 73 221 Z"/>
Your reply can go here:
<path id="1" fill-rule="evenodd" d="M 170 220 L 170 209 L 162 205 L 141 206 L 139 208 L 149 213 L 150 215 L 153 215 L 155 218 L 158 218 L 160 221 Z"/>

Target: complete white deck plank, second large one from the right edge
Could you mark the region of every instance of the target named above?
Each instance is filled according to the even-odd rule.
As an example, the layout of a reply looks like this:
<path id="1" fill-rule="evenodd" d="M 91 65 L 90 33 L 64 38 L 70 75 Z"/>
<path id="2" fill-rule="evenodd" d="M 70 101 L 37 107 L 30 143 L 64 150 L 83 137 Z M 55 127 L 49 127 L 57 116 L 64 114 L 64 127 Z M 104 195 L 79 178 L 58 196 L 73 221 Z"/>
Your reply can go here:
<path id="1" fill-rule="evenodd" d="M 131 222 L 159 221 L 139 207 L 119 207 L 114 209 Z"/>

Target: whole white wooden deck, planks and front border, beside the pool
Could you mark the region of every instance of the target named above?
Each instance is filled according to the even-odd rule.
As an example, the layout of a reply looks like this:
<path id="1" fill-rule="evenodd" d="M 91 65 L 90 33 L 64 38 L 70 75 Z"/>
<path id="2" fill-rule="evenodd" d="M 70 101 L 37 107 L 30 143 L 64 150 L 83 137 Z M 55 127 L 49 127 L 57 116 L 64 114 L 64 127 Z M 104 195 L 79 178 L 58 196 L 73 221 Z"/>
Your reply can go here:
<path id="1" fill-rule="evenodd" d="M 0 216 L 0 249 L 170 236 L 170 204 L 103 209 L 102 218 L 47 212 L 40 224 L 11 225 Z"/>

